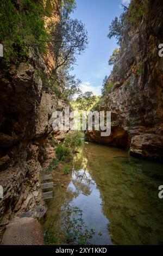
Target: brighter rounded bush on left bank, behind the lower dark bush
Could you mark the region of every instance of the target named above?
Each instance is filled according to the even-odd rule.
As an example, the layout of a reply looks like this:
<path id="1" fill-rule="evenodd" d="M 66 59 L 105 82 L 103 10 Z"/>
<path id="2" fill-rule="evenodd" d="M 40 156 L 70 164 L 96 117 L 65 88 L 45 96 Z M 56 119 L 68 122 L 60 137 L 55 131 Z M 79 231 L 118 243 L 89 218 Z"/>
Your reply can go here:
<path id="1" fill-rule="evenodd" d="M 82 145 L 82 141 L 80 139 L 80 133 L 79 132 L 68 133 L 65 137 L 64 145 L 65 147 L 70 148 L 72 150 L 72 153 L 74 153 L 76 148 Z"/>

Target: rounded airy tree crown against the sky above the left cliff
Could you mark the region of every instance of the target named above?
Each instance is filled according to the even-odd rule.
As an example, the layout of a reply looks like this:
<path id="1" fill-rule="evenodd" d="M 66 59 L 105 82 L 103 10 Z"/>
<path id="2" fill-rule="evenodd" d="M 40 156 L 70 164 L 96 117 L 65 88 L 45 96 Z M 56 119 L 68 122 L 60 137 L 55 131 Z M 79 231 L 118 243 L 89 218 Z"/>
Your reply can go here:
<path id="1" fill-rule="evenodd" d="M 54 56 L 57 71 L 61 66 L 70 68 L 76 63 L 76 56 L 84 52 L 87 45 L 87 31 L 77 19 L 62 19 L 55 33 Z"/>

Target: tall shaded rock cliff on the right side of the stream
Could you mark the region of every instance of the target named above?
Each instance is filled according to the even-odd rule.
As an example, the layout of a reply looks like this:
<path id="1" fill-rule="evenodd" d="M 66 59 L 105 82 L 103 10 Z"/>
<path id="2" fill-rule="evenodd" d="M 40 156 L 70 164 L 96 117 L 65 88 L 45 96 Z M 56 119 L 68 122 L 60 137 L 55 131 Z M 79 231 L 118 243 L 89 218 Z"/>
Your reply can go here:
<path id="1" fill-rule="evenodd" d="M 111 111 L 111 135 L 89 131 L 87 140 L 129 148 L 133 156 L 162 159 L 163 58 L 158 54 L 162 17 L 162 1 L 148 1 L 141 22 L 126 26 L 120 59 L 107 81 L 114 86 L 98 104 L 98 110 Z"/>

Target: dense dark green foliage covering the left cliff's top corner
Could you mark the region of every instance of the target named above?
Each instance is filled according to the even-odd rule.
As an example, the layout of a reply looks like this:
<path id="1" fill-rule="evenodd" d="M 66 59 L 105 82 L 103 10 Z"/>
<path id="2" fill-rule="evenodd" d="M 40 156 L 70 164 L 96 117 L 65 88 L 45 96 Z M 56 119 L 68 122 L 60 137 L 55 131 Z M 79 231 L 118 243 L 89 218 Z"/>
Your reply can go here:
<path id="1" fill-rule="evenodd" d="M 14 1 L 2 0 L 0 8 L 0 41 L 4 46 L 7 62 L 26 61 L 30 44 L 39 44 L 45 51 L 48 33 L 44 27 L 43 16 L 46 11 L 41 1 L 20 1 L 16 7 Z"/>

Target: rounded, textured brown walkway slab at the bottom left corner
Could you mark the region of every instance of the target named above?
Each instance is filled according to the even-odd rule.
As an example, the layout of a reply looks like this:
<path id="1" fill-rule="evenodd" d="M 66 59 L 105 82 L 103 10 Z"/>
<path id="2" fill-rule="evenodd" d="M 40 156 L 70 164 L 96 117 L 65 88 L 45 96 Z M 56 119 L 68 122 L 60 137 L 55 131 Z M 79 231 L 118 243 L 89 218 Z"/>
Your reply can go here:
<path id="1" fill-rule="evenodd" d="M 34 218 L 18 218 L 5 230 L 2 245 L 43 245 L 40 223 Z"/>

